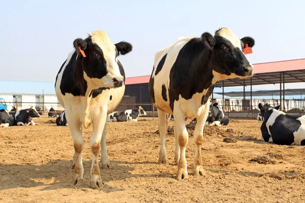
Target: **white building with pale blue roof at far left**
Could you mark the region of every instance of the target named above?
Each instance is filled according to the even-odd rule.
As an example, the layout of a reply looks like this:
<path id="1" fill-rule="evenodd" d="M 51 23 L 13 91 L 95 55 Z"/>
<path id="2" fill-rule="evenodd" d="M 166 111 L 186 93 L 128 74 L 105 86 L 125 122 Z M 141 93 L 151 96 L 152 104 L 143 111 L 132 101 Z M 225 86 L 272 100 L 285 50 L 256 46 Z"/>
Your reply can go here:
<path id="1" fill-rule="evenodd" d="M 0 80 L 0 98 L 4 98 L 8 110 L 16 106 L 18 110 L 31 106 L 53 107 L 63 111 L 55 93 L 54 82 L 9 81 Z"/>

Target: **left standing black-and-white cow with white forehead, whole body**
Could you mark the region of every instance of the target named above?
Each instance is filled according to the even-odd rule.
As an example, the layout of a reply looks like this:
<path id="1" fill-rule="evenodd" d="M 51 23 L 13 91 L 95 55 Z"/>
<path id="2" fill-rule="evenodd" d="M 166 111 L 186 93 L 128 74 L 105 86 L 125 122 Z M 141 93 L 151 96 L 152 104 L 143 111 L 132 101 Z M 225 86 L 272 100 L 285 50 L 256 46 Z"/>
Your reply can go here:
<path id="1" fill-rule="evenodd" d="M 109 168 L 106 151 L 107 114 L 118 106 L 125 91 L 125 72 L 117 59 L 132 50 L 128 42 L 113 44 L 105 31 L 94 31 L 86 39 L 76 39 L 74 49 L 60 67 L 55 91 L 74 143 L 74 185 L 83 184 L 82 128 L 93 124 L 89 141 L 92 152 L 90 187 L 102 186 L 98 157 L 101 143 L 102 168 Z"/>

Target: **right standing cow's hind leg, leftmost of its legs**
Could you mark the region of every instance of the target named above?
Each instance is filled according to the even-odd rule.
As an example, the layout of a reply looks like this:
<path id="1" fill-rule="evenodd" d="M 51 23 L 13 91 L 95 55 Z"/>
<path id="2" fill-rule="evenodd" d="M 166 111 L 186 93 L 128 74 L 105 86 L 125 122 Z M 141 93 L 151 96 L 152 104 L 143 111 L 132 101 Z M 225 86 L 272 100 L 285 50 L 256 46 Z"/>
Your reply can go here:
<path id="1" fill-rule="evenodd" d="M 159 163 L 166 164 L 165 136 L 167 134 L 168 114 L 158 109 L 158 117 L 159 117 L 159 133 L 161 137 Z"/>

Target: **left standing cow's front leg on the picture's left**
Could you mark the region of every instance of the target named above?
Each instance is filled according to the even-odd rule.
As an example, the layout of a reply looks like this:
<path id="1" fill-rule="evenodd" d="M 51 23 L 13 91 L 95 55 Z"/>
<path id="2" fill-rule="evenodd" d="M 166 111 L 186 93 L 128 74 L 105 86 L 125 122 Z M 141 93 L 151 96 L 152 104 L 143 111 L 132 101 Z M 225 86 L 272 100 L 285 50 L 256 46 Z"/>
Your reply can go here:
<path id="1" fill-rule="evenodd" d="M 73 138 L 75 150 L 75 167 L 74 167 L 74 185 L 82 186 L 84 183 L 83 174 L 84 167 L 82 164 L 82 151 L 84 148 L 84 139 L 82 137 L 81 122 L 77 121 L 73 115 L 67 113 L 67 120 L 69 121 L 69 128 Z M 74 162 L 74 161 L 73 161 Z"/>

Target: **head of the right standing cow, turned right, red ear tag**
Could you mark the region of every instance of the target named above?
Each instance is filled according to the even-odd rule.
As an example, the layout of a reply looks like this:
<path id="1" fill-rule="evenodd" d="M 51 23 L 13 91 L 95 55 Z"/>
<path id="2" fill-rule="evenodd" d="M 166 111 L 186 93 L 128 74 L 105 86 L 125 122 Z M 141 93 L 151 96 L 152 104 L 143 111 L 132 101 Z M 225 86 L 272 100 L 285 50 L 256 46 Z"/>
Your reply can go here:
<path id="1" fill-rule="evenodd" d="M 216 80 L 247 78 L 253 75 L 253 65 L 249 63 L 243 49 L 254 46 L 251 37 L 237 38 L 229 28 L 221 28 L 213 37 L 205 32 L 201 36 L 211 50 L 213 75 Z"/>

